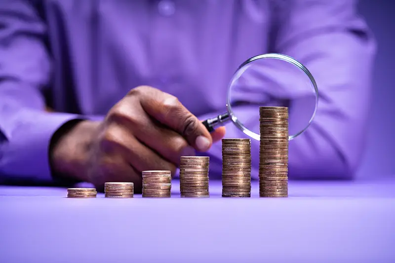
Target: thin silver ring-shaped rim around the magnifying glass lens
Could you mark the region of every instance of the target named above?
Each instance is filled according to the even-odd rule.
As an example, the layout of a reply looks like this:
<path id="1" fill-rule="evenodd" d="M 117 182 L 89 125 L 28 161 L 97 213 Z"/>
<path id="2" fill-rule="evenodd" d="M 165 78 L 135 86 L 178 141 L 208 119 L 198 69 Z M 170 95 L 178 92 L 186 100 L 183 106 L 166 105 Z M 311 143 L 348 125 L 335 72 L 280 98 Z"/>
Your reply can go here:
<path id="1" fill-rule="evenodd" d="M 316 98 L 316 104 L 315 104 L 315 109 L 313 112 L 313 115 L 311 116 L 308 124 L 306 125 L 306 127 L 304 129 L 302 129 L 301 131 L 297 132 L 294 135 L 290 135 L 288 136 L 288 140 L 293 140 L 296 137 L 298 137 L 299 135 L 301 135 L 303 132 L 305 132 L 307 130 L 307 128 L 309 128 L 310 124 L 312 123 L 314 117 L 316 116 L 316 111 L 318 109 L 318 99 L 319 99 L 319 95 L 318 95 L 318 87 L 317 87 L 317 83 L 316 80 L 314 79 L 313 75 L 310 73 L 310 71 L 299 61 L 297 61 L 296 59 L 284 55 L 284 54 L 278 54 L 278 53 L 267 53 L 267 54 L 263 54 L 263 55 L 258 55 L 258 56 L 254 56 L 252 58 L 247 59 L 246 61 L 244 61 L 238 68 L 237 71 L 235 72 L 235 74 L 233 75 L 231 81 L 229 82 L 229 86 L 228 86 L 228 92 L 226 94 L 226 108 L 228 111 L 228 114 L 231 116 L 232 122 L 246 135 L 248 135 L 249 137 L 259 141 L 261 136 L 260 134 L 257 134 L 255 132 L 250 131 L 249 129 L 247 129 L 238 119 L 237 116 L 233 113 L 232 110 L 232 106 L 231 106 L 231 88 L 233 83 L 244 73 L 244 71 L 248 68 L 248 64 L 258 60 L 258 59 L 267 59 L 267 58 L 273 58 L 273 59 L 279 59 L 282 61 L 286 61 L 288 63 L 291 63 L 292 65 L 296 66 L 297 68 L 301 69 L 310 79 L 311 83 L 313 84 L 314 87 L 314 91 L 315 91 L 315 98 Z M 244 68 L 245 67 L 245 68 Z M 244 68 L 244 69 L 243 69 Z"/>

